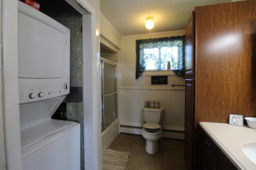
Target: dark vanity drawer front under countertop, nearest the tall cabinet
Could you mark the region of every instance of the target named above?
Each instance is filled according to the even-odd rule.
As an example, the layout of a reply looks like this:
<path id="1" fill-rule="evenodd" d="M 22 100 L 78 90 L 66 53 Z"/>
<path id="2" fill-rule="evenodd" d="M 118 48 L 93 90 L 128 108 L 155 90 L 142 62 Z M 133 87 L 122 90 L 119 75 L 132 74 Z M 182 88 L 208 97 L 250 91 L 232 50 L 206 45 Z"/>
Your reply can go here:
<path id="1" fill-rule="evenodd" d="M 202 136 L 202 145 L 209 151 L 214 161 L 218 162 L 218 147 L 217 145 L 212 141 L 212 139 L 206 135 L 206 133 L 203 133 Z"/>

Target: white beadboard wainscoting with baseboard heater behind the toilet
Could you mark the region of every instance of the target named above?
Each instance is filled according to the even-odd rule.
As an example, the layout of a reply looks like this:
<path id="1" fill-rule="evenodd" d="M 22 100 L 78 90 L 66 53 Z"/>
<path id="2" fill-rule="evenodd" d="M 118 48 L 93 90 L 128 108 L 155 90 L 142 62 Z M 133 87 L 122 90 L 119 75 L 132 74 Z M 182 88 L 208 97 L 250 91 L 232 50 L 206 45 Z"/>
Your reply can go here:
<path id="1" fill-rule="evenodd" d="M 164 107 L 163 136 L 184 139 L 184 88 L 119 88 L 120 132 L 141 134 L 142 106 L 146 100 L 158 100 Z"/>

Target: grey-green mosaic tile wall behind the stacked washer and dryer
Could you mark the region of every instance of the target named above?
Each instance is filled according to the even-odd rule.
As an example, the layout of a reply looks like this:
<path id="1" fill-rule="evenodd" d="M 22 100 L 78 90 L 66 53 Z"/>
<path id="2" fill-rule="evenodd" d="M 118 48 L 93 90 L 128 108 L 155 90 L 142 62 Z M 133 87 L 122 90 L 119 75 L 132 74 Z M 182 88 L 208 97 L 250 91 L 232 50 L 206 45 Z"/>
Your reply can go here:
<path id="1" fill-rule="evenodd" d="M 70 87 L 82 88 L 82 15 L 64 0 L 41 4 L 40 11 L 70 29 Z M 70 88 L 71 89 L 71 88 Z M 81 94 L 82 95 L 82 94 Z M 81 170 L 84 169 L 84 129 L 82 102 L 66 103 L 66 118 L 81 125 Z"/>

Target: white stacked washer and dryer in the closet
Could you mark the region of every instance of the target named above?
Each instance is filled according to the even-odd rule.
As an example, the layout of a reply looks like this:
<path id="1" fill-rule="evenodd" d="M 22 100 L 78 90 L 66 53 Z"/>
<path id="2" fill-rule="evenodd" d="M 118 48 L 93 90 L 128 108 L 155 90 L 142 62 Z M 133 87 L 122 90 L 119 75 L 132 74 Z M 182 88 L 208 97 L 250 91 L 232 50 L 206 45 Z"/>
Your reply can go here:
<path id="1" fill-rule="evenodd" d="M 70 86 L 70 30 L 18 1 L 23 170 L 80 170 L 80 124 L 51 119 Z"/>

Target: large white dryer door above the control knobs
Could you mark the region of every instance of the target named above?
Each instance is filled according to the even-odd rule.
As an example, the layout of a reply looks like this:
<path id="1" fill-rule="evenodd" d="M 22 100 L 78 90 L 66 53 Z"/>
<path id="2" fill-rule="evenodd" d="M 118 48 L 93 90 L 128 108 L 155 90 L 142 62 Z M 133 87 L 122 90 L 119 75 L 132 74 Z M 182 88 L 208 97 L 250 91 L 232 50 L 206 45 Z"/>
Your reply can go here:
<path id="1" fill-rule="evenodd" d="M 34 10 L 34 12 L 39 11 Z M 51 18 L 46 17 L 46 19 Z M 60 78 L 64 76 L 67 51 L 67 37 L 63 32 L 33 16 L 18 12 L 19 78 Z"/>

